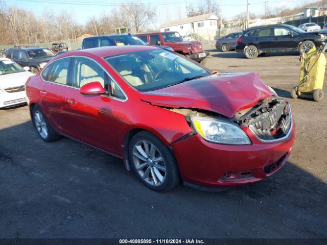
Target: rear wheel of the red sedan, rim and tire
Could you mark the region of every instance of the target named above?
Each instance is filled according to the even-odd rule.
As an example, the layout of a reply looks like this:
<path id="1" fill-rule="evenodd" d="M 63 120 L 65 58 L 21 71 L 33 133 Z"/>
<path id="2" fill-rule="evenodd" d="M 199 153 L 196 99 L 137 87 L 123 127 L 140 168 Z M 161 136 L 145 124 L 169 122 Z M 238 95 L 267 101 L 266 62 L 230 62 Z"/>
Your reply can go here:
<path id="1" fill-rule="evenodd" d="M 34 106 L 32 109 L 32 121 L 38 135 L 43 141 L 52 142 L 60 138 L 60 135 L 53 130 L 48 120 L 46 120 L 45 115 L 37 106 Z"/>

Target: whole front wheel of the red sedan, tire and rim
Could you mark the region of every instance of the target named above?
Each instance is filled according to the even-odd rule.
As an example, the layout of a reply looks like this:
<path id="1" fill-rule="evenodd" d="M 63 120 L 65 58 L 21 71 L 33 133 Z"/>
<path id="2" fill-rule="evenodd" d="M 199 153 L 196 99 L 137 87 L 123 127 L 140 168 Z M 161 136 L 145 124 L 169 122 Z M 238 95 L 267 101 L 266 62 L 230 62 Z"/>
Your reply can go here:
<path id="1" fill-rule="evenodd" d="M 128 156 L 134 173 L 148 188 L 169 191 L 180 182 L 175 157 L 155 135 L 146 131 L 135 134 Z"/>

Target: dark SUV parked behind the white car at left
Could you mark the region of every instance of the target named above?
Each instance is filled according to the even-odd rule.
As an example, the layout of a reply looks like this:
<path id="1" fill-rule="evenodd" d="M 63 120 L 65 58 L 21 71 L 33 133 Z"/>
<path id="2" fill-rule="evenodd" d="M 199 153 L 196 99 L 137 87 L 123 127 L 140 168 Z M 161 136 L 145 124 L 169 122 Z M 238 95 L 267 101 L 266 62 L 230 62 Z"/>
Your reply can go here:
<path id="1" fill-rule="evenodd" d="M 8 48 L 6 56 L 37 74 L 56 55 L 47 47 Z"/>

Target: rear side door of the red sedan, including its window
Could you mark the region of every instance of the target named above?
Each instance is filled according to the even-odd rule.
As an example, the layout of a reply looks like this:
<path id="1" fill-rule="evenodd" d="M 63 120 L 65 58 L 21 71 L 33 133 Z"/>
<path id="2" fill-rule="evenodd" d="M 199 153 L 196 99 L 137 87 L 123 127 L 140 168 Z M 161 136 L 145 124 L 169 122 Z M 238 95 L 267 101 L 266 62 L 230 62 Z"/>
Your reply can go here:
<path id="1" fill-rule="evenodd" d="M 39 89 L 42 109 L 51 124 L 63 134 L 69 134 L 65 97 L 69 91 L 69 64 L 71 58 L 63 58 L 47 66 L 41 74 Z"/>

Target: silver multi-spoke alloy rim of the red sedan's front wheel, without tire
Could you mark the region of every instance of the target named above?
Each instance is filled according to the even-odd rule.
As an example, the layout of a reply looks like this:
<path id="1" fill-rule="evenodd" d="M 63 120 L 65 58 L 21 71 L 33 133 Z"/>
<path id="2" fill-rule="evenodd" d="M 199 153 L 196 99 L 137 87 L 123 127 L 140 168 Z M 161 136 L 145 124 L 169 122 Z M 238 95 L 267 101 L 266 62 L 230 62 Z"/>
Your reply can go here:
<path id="1" fill-rule="evenodd" d="M 146 140 L 139 140 L 133 146 L 133 164 L 139 176 L 152 186 L 159 186 L 166 180 L 166 163 L 159 150 Z"/>

